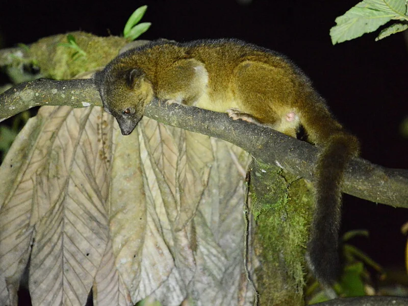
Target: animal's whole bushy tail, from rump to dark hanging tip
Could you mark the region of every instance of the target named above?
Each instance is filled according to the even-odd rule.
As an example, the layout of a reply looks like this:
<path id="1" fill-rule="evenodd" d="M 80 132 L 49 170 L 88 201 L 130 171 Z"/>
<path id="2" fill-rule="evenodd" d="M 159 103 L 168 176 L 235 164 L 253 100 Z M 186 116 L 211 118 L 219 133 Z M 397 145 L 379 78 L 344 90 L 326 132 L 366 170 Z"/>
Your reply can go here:
<path id="1" fill-rule="evenodd" d="M 315 170 L 316 209 L 308 244 L 308 261 L 318 281 L 333 284 L 339 276 L 339 227 L 341 182 L 347 162 L 358 155 L 358 140 L 318 101 L 314 112 L 303 114 L 302 123 L 312 142 L 322 148 Z M 308 131 L 313 131 L 309 133 Z"/>

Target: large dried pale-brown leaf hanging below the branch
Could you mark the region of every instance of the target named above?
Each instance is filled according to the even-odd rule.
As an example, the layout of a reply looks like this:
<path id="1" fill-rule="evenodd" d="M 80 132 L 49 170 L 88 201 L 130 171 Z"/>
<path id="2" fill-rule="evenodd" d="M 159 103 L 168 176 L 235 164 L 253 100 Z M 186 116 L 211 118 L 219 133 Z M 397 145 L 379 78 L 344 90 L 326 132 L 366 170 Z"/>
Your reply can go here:
<path id="1" fill-rule="evenodd" d="M 232 144 L 100 108 L 43 107 L 0 167 L 0 304 L 245 305 L 244 180 Z"/>

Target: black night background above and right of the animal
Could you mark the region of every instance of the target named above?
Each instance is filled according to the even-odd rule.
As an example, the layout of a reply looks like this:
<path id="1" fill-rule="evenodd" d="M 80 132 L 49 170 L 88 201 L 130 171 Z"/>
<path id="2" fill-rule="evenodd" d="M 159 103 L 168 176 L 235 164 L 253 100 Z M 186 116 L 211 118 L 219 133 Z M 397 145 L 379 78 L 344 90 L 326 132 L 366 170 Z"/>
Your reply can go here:
<path id="1" fill-rule="evenodd" d="M 408 46 L 402 34 L 375 42 L 374 34 L 333 46 L 335 18 L 358 0 L 261 1 L 35 1 L 3 2 L 2 47 L 69 31 L 120 35 L 131 13 L 147 4 L 152 22 L 141 39 L 236 37 L 286 54 L 313 80 L 340 122 L 362 143 L 362 157 L 408 168 L 408 139 L 400 124 L 408 116 Z M 370 238 L 352 241 L 384 266 L 403 268 L 406 238 L 400 227 L 408 211 L 345 195 L 342 231 L 368 228 Z"/>

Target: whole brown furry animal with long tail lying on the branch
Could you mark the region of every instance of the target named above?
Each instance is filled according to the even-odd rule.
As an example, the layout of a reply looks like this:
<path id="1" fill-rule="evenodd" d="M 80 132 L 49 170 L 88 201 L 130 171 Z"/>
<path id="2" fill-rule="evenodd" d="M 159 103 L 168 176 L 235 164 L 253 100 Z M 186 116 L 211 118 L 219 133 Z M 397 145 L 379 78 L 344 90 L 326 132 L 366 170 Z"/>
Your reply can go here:
<path id="1" fill-rule="evenodd" d="M 271 127 L 296 137 L 303 125 L 322 147 L 309 262 L 320 281 L 338 272 L 341 178 L 359 144 L 328 111 L 303 72 L 284 56 L 233 39 L 157 41 L 129 50 L 95 75 L 105 109 L 130 134 L 154 98 Z"/>

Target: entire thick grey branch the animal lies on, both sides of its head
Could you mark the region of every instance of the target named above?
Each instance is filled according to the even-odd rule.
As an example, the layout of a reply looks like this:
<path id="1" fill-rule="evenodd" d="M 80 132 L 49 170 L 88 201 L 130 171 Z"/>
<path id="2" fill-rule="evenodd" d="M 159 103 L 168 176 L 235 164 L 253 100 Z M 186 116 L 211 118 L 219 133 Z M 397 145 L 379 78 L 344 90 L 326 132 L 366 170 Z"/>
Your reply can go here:
<path id="1" fill-rule="evenodd" d="M 88 104 L 101 105 L 92 80 L 39 79 L 19 84 L 0 96 L 0 121 L 38 105 L 84 107 Z M 254 158 L 313 180 L 318 148 L 309 143 L 255 124 L 233 121 L 226 114 L 194 107 L 154 102 L 146 108 L 145 114 L 165 124 L 224 139 L 242 147 Z M 408 171 L 353 159 L 346 169 L 343 191 L 373 202 L 408 208 Z"/>

